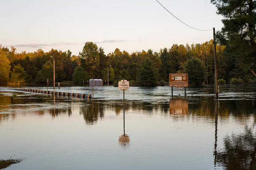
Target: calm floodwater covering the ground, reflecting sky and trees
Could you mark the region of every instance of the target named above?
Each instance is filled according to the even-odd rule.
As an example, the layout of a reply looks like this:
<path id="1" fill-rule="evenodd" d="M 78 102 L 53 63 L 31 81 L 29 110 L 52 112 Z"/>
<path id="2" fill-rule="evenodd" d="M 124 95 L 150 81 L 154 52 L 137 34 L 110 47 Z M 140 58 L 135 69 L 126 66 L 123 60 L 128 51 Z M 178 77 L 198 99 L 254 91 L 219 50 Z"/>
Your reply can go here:
<path id="1" fill-rule="evenodd" d="M 113 86 L 94 88 L 90 101 L 8 88 L 0 87 L 0 159 L 25 159 L 7 170 L 256 168 L 255 85 L 220 86 L 216 102 L 212 85 L 189 86 L 186 98 L 184 88 L 172 97 L 168 86 L 130 87 L 125 101 Z"/>

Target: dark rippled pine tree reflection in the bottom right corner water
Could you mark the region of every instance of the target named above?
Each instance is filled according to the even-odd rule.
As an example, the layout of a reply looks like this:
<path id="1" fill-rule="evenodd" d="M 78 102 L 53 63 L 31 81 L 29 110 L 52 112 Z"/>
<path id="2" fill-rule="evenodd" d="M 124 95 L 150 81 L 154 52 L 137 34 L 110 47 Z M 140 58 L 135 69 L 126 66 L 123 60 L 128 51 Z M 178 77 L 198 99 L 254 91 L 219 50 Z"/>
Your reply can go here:
<path id="1" fill-rule="evenodd" d="M 245 127 L 244 133 L 227 135 L 224 149 L 214 152 L 216 163 L 228 170 L 256 169 L 256 136 L 254 129 Z"/>

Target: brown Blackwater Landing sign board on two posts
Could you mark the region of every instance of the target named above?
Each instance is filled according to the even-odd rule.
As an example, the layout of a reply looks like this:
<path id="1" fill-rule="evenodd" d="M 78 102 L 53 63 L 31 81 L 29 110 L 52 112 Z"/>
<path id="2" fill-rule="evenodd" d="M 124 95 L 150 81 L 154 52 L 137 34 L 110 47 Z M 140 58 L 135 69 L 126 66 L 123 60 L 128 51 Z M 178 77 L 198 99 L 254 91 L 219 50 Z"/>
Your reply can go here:
<path id="1" fill-rule="evenodd" d="M 188 74 L 187 73 L 174 73 L 169 74 L 170 87 L 188 87 Z"/>

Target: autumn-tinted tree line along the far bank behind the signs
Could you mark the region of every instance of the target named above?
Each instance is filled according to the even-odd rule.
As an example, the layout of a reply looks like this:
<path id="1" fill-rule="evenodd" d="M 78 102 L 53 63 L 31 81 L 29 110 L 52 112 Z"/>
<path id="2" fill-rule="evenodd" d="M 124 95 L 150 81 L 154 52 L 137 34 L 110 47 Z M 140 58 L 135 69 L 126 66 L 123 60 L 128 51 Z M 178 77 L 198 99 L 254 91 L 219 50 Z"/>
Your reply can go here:
<path id="1" fill-rule="evenodd" d="M 227 83 L 241 80 L 255 83 L 250 69 L 244 69 L 231 55 L 224 53 L 225 46 L 217 45 L 218 79 Z M 52 49 L 44 52 L 17 53 L 14 47 L 0 46 L 0 82 L 45 83 L 53 82 L 53 58 L 55 59 L 56 82 L 87 82 L 91 78 L 116 83 L 123 78 L 134 86 L 164 85 L 169 73 L 188 73 L 194 84 L 214 82 L 213 40 L 202 44 L 177 45 L 160 49 L 160 52 L 140 51 L 129 54 L 115 49 L 105 54 L 102 47 L 86 42 L 79 55 L 71 51 Z"/>

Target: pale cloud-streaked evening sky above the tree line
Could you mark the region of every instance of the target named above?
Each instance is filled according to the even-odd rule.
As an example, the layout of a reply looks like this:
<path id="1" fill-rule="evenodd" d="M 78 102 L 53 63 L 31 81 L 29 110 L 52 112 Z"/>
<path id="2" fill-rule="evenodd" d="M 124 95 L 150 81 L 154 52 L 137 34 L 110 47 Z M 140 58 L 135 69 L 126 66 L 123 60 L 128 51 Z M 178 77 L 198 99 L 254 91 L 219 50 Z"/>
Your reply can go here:
<path id="1" fill-rule="evenodd" d="M 184 23 L 220 30 L 222 16 L 210 0 L 158 0 Z M 17 52 L 52 48 L 78 55 L 92 41 L 105 54 L 159 52 L 173 44 L 204 43 L 213 31 L 192 29 L 156 0 L 1 0 L 0 44 Z"/>

